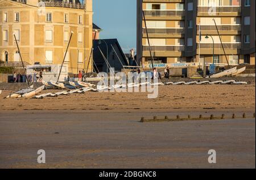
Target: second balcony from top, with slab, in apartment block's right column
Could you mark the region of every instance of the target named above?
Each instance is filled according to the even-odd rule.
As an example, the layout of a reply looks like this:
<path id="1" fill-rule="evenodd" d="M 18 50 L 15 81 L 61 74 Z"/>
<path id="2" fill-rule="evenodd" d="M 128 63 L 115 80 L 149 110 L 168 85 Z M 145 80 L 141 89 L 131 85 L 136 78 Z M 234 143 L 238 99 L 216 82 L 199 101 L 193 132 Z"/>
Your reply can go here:
<path id="1" fill-rule="evenodd" d="M 240 35 L 241 24 L 217 25 L 220 35 Z M 201 34 L 218 35 L 215 25 L 200 25 Z M 197 25 L 197 35 L 199 35 L 199 25 Z"/>

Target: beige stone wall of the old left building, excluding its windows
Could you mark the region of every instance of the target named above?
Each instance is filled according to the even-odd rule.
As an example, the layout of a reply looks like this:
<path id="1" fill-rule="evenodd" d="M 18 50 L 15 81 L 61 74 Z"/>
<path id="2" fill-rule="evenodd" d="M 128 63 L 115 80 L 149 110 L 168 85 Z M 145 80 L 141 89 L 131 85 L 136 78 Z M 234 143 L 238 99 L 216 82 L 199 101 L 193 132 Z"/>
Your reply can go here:
<path id="1" fill-rule="evenodd" d="M 22 3 L 0 0 L 0 60 L 3 54 L 8 52 L 9 61 L 14 61 L 14 53 L 18 51 L 13 38 L 13 30 L 20 30 L 19 47 L 23 61 L 29 64 L 40 62 L 47 64 L 46 51 L 52 51 L 53 64 L 63 62 L 67 42 L 64 42 L 64 31 L 69 35 L 73 31 L 72 40 L 68 49 L 69 73 L 77 73 L 86 69 L 92 48 L 92 0 L 86 1 L 86 10 L 62 7 L 46 7 L 46 12 L 52 13 L 52 22 L 46 21 L 46 15 L 38 14 L 38 7 L 27 6 Z M 3 13 L 7 12 L 7 23 L 3 22 Z M 19 12 L 20 20 L 14 22 L 14 12 Z M 64 22 L 64 14 L 68 14 L 69 22 Z M 79 15 L 82 15 L 82 23 L 79 24 Z M 3 43 L 2 31 L 8 30 L 8 43 Z M 45 31 L 52 31 L 52 42 L 46 42 Z M 78 42 L 78 32 L 82 32 L 82 43 Z M 68 35 L 68 36 L 69 36 Z M 68 37 L 69 39 L 69 37 Z M 78 52 L 82 52 L 82 62 L 77 63 Z M 86 65 L 86 66 L 85 66 Z M 89 72 L 91 71 L 89 65 Z"/>

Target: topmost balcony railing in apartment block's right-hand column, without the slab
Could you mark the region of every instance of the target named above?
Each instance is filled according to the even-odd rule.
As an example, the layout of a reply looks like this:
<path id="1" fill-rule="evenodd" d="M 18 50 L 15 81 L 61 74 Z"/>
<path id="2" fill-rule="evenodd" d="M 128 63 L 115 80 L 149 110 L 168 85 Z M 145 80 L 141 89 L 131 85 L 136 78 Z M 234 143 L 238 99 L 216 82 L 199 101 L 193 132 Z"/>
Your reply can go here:
<path id="1" fill-rule="evenodd" d="M 241 7 L 240 6 L 214 6 L 214 7 L 197 7 L 197 12 L 204 12 L 209 14 L 220 14 L 222 12 L 238 12 L 238 14 L 241 13 Z"/>

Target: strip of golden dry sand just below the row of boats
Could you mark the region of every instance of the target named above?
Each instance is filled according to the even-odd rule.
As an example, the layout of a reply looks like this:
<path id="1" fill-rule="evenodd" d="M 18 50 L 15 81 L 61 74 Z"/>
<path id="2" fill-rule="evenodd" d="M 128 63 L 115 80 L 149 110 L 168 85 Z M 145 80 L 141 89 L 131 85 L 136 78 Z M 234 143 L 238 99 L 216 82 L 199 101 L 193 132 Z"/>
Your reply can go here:
<path id="1" fill-rule="evenodd" d="M 44 90 L 49 93 L 54 90 Z M 56 91 L 56 90 L 55 90 Z M 148 93 L 96 93 L 61 95 L 44 99 L 3 99 L 0 111 L 65 110 L 111 112 L 168 112 L 174 110 L 240 110 L 254 111 L 255 85 L 181 85 L 159 86 L 158 98 L 148 99 Z"/>

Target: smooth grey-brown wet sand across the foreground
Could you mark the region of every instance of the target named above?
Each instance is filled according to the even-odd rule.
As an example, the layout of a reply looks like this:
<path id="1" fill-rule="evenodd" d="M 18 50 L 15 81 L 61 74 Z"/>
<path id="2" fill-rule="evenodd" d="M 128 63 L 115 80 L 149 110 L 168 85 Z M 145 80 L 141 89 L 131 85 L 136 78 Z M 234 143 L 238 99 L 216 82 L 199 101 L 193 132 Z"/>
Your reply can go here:
<path id="1" fill-rule="evenodd" d="M 0 168 L 255 168 L 255 119 L 139 123 L 141 115 L 4 112 Z"/>

